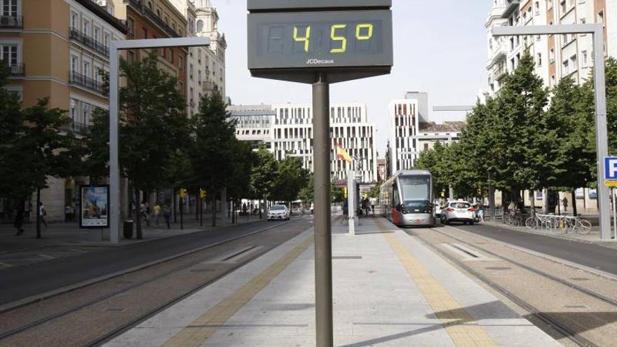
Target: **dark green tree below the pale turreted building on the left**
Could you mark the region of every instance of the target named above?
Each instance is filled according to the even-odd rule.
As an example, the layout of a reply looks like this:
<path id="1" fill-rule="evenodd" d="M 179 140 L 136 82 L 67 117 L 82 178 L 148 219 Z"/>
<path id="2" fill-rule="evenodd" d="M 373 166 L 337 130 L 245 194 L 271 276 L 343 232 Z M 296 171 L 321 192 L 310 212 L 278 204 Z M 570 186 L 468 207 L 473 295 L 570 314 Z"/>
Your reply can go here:
<path id="1" fill-rule="evenodd" d="M 216 226 L 216 196 L 233 175 L 236 164 L 236 124 L 229 121 L 219 93 L 204 95 L 199 113 L 191 119 L 193 146 L 189 151 L 193 186 L 205 188 L 212 202 L 212 226 Z"/>

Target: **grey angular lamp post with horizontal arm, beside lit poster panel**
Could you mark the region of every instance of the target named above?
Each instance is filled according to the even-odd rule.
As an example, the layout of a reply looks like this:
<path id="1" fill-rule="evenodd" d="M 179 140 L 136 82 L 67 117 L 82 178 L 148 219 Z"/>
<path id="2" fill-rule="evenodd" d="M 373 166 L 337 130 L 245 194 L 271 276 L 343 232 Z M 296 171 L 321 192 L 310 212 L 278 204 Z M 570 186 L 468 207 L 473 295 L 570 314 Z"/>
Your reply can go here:
<path id="1" fill-rule="evenodd" d="M 109 240 L 120 238 L 120 165 L 118 156 L 120 50 L 139 48 L 210 46 L 205 37 L 145 39 L 109 42 Z"/>

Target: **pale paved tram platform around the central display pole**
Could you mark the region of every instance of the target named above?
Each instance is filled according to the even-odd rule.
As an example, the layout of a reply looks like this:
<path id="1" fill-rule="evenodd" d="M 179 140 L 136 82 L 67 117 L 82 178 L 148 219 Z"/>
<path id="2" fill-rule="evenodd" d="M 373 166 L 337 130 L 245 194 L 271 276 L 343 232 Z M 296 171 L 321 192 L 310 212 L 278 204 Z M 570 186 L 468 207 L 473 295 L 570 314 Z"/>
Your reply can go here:
<path id="1" fill-rule="evenodd" d="M 333 217 L 334 346 L 561 346 L 386 219 Z M 312 230 L 106 346 L 316 346 Z"/>

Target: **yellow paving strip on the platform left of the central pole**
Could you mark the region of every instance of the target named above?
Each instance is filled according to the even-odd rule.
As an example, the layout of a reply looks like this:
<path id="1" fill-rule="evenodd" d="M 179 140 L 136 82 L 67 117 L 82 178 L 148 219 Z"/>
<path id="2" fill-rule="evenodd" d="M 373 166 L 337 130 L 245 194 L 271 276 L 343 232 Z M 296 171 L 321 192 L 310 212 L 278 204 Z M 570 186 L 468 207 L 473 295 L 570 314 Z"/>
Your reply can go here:
<path id="1" fill-rule="evenodd" d="M 313 244 L 313 237 L 306 239 L 300 245 L 294 247 L 293 250 L 287 252 L 285 256 L 278 259 L 274 264 L 266 268 L 266 270 L 256 275 L 248 283 L 240 287 L 236 292 L 233 292 L 229 297 L 219 302 L 213 308 L 203 313 L 190 325 L 184 327 L 177 334 L 172 336 L 168 341 L 163 343 L 165 347 L 189 347 L 201 346 L 212 334 L 217 331 L 215 326 L 224 325 L 240 308 L 250 301 L 257 293 L 261 292 L 271 280 L 276 278 L 280 273 L 290 266 L 309 246 Z"/>

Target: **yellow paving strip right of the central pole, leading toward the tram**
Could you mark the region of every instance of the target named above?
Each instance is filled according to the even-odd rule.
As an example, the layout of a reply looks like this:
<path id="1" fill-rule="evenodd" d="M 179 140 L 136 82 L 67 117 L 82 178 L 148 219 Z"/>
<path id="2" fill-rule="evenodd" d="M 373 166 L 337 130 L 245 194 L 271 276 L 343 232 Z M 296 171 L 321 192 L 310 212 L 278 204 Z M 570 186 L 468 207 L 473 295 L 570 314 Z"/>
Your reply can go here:
<path id="1" fill-rule="evenodd" d="M 379 219 L 377 226 L 386 231 Z M 475 319 L 467 313 L 452 295 L 431 275 L 409 250 L 400 243 L 395 234 L 384 234 L 390 247 L 394 250 L 405 270 L 412 277 L 420 292 L 433 308 L 437 318 L 443 323 L 447 333 L 456 346 L 497 346 L 494 339 L 475 323 Z"/>

